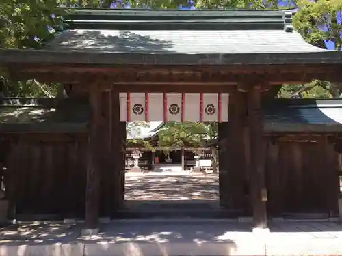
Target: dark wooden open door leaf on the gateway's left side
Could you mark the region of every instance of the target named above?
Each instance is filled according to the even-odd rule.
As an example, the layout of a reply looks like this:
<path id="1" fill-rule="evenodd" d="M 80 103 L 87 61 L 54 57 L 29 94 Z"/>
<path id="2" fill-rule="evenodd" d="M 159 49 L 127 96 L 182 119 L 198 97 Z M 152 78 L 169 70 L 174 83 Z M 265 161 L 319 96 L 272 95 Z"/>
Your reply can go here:
<path id="1" fill-rule="evenodd" d="M 101 100 L 101 216 L 109 217 L 124 207 L 124 158 L 126 122 L 120 122 L 118 93 L 103 92 Z"/>

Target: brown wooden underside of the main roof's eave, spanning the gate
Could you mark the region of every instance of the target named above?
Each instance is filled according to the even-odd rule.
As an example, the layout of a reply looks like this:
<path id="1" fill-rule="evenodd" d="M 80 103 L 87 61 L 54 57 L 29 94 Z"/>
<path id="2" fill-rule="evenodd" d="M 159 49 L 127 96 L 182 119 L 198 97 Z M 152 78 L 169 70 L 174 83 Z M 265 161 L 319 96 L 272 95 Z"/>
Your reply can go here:
<path id="1" fill-rule="evenodd" d="M 98 76 L 116 85 L 236 85 L 239 81 L 269 81 L 271 85 L 306 83 L 314 79 L 339 81 L 336 68 L 321 66 L 16 66 L 10 74 L 13 79 L 37 79 L 44 83 L 79 83 L 81 79 Z M 243 91 L 243 87 L 241 91 Z"/>

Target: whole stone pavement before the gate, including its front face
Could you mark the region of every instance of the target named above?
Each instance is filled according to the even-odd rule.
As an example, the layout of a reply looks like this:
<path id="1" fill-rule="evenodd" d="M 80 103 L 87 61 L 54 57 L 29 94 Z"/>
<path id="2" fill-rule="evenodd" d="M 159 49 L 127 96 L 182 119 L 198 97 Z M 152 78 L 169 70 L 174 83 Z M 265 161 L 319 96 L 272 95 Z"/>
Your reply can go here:
<path id="1" fill-rule="evenodd" d="M 112 221 L 96 236 L 83 223 L 26 223 L 0 229 L 2 256 L 225 256 L 342 255 L 342 226 L 328 221 L 269 223 L 252 233 L 237 221 Z"/>

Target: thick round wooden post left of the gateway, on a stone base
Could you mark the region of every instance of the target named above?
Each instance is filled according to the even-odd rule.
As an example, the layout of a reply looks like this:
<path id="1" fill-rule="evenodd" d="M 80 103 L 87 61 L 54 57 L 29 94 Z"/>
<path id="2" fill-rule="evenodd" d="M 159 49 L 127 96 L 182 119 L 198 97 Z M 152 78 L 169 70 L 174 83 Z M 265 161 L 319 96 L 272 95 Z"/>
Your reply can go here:
<path id="1" fill-rule="evenodd" d="M 101 175 L 101 89 L 96 83 L 90 86 L 91 117 L 88 136 L 86 229 L 83 229 L 83 234 L 98 233 Z"/>

